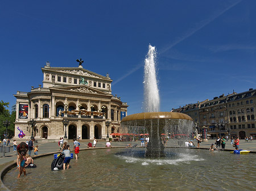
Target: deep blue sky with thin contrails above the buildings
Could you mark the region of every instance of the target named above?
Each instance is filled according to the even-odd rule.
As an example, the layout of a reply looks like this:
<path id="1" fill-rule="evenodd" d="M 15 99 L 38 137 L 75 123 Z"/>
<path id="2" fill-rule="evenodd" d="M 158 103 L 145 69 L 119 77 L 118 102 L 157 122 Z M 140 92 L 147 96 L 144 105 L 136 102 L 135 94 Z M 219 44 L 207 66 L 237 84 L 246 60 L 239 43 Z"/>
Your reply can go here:
<path id="1" fill-rule="evenodd" d="M 142 112 L 143 63 L 158 52 L 160 111 L 255 88 L 256 1 L 1 1 L 0 100 L 42 84 L 41 67 L 110 74 Z"/>

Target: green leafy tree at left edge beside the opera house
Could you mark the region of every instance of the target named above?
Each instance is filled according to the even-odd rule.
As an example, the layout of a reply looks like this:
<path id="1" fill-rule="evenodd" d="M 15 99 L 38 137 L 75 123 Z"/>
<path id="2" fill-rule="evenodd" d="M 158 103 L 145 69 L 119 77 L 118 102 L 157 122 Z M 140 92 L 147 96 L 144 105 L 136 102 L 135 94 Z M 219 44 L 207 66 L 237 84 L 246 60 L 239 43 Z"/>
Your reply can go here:
<path id="1" fill-rule="evenodd" d="M 9 102 L 5 103 L 3 100 L 0 102 L 0 137 L 3 139 L 5 137 L 6 126 L 3 125 L 3 121 L 10 121 L 10 126 L 8 126 L 8 138 L 14 136 L 14 122 L 16 118 L 16 112 L 10 114 Z"/>

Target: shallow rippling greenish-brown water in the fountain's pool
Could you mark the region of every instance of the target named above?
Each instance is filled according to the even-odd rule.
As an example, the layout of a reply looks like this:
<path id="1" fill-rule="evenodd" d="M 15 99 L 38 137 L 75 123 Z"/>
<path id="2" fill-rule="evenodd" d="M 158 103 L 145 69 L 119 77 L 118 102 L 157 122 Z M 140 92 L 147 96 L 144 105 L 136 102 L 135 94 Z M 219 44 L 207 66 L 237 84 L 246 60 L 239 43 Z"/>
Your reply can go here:
<path id="1" fill-rule="evenodd" d="M 10 190 L 252 190 L 255 155 L 234 155 L 188 148 L 166 148 L 167 157 L 143 158 L 145 150 L 107 148 L 81 151 L 65 171 L 51 171 L 53 155 L 16 179 L 13 168 L 3 179 Z M 133 154 L 133 156 L 131 156 Z M 36 184 L 34 184 L 36 182 Z M 86 189 L 85 189 L 86 188 Z"/>

